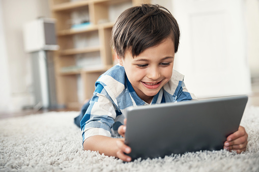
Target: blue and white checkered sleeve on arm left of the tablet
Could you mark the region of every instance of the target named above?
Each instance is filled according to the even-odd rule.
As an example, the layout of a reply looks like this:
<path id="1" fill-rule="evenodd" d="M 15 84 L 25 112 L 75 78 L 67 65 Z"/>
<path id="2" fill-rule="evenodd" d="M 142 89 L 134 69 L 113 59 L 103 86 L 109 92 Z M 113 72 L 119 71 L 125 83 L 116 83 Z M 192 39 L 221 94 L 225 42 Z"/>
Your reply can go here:
<path id="1" fill-rule="evenodd" d="M 81 120 L 83 142 L 93 135 L 111 137 L 116 110 L 102 84 L 97 84 L 90 106 Z"/>

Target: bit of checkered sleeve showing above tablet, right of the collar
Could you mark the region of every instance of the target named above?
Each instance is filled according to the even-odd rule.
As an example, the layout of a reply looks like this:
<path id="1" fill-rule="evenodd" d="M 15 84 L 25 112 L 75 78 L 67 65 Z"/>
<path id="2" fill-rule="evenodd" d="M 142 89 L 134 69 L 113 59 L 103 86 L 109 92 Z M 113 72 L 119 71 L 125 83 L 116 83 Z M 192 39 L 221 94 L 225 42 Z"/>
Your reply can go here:
<path id="1" fill-rule="evenodd" d="M 176 101 L 186 101 L 186 100 L 197 100 L 196 96 L 192 93 L 189 93 L 185 87 L 184 81 L 179 81 L 177 87 L 177 98 Z"/>

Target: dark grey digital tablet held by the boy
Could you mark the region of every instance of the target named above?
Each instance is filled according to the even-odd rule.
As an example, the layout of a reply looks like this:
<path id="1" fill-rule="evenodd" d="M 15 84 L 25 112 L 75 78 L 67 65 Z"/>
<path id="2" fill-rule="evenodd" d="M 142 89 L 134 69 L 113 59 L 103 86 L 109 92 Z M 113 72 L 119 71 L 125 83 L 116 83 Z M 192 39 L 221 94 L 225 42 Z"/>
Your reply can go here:
<path id="1" fill-rule="evenodd" d="M 238 130 L 248 97 L 231 96 L 129 107 L 125 144 L 137 158 L 223 149 Z"/>

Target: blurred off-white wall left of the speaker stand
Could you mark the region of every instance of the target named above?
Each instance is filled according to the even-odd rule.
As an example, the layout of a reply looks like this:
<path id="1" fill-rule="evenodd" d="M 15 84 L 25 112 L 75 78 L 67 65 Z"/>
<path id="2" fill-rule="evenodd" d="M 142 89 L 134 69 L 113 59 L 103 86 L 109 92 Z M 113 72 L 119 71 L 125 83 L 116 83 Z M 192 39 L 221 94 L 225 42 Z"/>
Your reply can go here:
<path id="1" fill-rule="evenodd" d="M 0 0 L 0 4 L 2 7 L 0 35 L 4 35 L 0 37 L 0 42 L 4 44 L 0 49 L 1 62 L 3 61 L 0 63 L 0 68 L 6 73 L 6 76 L 1 76 L 1 113 L 17 111 L 23 106 L 34 103 L 31 93 L 31 56 L 23 49 L 22 25 L 37 17 L 49 17 L 50 10 L 48 1 L 45 0 Z M 2 103 L 8 104 L 10 108 L 5 108 Z"/>

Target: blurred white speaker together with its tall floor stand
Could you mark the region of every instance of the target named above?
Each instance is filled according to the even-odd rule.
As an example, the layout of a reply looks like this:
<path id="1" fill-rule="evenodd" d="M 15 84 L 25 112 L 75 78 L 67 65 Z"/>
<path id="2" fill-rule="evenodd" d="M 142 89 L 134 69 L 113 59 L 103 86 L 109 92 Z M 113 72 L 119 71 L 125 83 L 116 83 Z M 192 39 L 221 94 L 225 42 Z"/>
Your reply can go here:
<path id="1" fill-rule="evenodd" d="M 23 108 L 57 108 L 53 54 L 56 42 L 55 19 L 43 18 L 23 25 L 24 49 L 31 54 L 34 104 Z"/>

